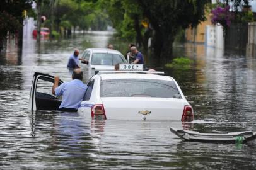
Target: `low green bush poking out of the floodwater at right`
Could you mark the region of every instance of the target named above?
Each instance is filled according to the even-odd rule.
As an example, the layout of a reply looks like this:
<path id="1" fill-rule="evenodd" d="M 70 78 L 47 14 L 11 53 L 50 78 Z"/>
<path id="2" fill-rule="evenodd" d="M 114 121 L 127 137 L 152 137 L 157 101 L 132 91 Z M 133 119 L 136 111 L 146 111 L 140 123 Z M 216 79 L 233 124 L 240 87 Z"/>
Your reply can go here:
<path id="1" fill-rule="evenodd" d="M 179 57 L 173 59 L 172 63 L 165 64 L 165 67 L 173 69 L 190 69 L 192 64 L 193 60 L 187 57 Z"/>

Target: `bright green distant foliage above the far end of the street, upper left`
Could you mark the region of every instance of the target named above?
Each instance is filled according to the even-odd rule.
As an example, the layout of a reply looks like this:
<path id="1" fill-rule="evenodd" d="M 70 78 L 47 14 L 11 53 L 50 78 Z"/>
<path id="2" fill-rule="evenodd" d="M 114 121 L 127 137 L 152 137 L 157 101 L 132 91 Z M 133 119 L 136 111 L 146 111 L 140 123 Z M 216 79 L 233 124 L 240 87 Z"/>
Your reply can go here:
<path id="1" fill-rule="evenodd" d="M 50 20 L 50 1 L 44 0 L 42 14 Z M 54 1 L 54 28 L 55 30 L 106 30 L 111 25 L 108 14 L 102 10 L 100 1 L 86 0 L 58 0 Z"/>

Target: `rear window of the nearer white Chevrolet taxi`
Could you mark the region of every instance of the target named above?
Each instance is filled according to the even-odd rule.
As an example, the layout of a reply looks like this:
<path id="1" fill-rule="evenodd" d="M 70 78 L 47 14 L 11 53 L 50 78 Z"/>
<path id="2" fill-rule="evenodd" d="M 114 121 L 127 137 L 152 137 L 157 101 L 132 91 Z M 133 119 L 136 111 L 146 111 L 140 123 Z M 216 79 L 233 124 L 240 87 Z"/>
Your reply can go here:
<path id="1" fill-rule="evenodd" d="M 112 79 L 101 82 L 101 97 L 182 98 L 173 81 Z"/>

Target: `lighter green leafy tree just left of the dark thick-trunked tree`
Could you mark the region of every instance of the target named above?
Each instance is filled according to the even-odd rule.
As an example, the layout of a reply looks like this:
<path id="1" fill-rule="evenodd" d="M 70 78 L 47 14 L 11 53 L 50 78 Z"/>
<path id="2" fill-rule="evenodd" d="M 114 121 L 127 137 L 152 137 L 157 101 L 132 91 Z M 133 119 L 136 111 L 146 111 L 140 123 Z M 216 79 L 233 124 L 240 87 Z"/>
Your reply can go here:
<path id="1" fill-rule="evenodd" d="M 136 40 L 139 47 L 145 50 L 148 47 L 148 28 L 141 25 L 143 13 L 138 3 L 129 0 L 104 1 L 112 21 L 113 27 L 117 30 L 120 37 L 129 41 Z"/>

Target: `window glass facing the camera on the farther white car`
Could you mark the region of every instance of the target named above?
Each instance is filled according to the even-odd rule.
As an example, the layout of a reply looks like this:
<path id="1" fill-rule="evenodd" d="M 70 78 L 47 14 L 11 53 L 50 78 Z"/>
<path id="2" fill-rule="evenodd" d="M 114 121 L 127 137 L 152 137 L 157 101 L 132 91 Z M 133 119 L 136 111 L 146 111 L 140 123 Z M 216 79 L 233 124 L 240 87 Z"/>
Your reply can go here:
<path id="1" fill-rule="evenodd" d="M 125 63 L 125 59 L 122 55 L 94 53 L 91 58 L 92 65 L 115 65 L 117 63 Z"/>

